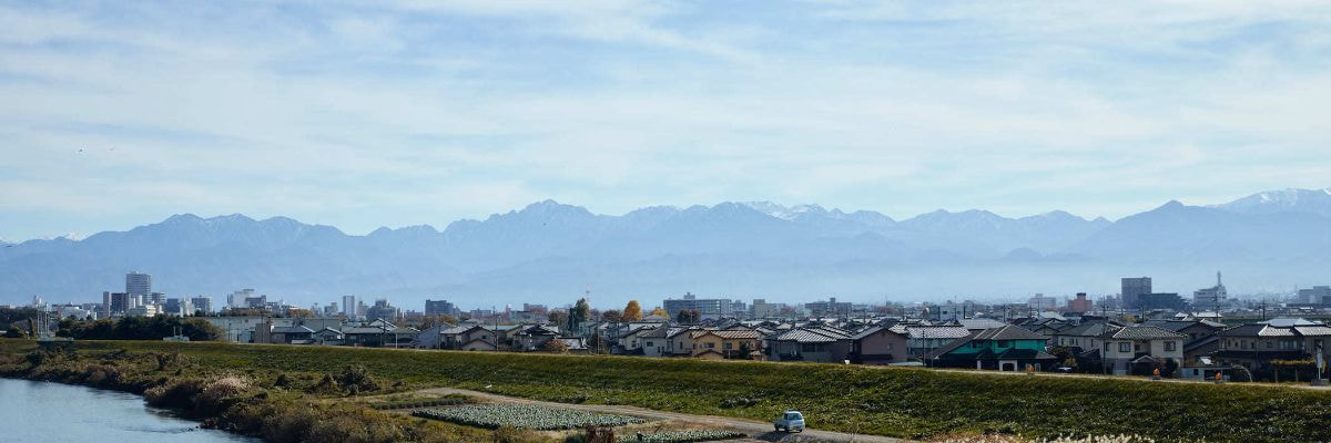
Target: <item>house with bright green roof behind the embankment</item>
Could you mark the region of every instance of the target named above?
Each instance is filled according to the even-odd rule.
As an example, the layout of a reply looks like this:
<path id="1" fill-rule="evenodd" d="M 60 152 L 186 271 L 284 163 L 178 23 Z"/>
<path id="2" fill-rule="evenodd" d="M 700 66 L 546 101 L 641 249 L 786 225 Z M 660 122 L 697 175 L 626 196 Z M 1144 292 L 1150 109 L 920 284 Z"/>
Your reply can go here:
<path id="1" fill-rule="evenodd" d="M 1045 339 L 1021 326 L 986 329 L 929 353 L 926 363 L 1000 371 L 1022 371 L 1026 366 L 1049 370 L 1058 358 L 1045 353 Z"/>

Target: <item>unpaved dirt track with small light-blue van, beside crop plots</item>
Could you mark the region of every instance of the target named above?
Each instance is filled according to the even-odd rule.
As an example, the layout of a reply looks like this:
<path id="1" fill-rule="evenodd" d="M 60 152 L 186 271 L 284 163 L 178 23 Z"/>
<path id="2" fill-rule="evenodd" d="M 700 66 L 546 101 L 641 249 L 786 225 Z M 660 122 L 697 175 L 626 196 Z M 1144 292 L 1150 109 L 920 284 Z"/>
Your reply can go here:
<path id="1" fill-rule="evenodd" d="M 736 431 L 748 432 L 751 438 L 761 442 L 864 442 L 864 443 L 909 442 L 902 439 L 894 439 L 890 436 L 845 434 L 845 432 L 832 432 L 820 430 L 805 430 L 804 432 L 787 434 L 787 432 L 773 431 L 772 423 L 737 419 L 729 416 L 666 412 L 666 411 L 642 408 L 636 406 L 620 406 L 620 404 L 571 404 L 571 403 L 542 402 L 542 400 L 532 400 L 526 398 L 507 396 L 507 395 L 490 394 L 482 391 L 459 390 L 453 387 L 437 387 L 417 392 L 435 394 L 435 395 L 462 394 L 494 403 L 539 404 L 539 406 L 562 407 L 562 408 L 590 411 L 590 412 L 634 415 L 654 420 L 677 420 L 685 423 L 707 424 L 707 426 L 732 428 Z"/>

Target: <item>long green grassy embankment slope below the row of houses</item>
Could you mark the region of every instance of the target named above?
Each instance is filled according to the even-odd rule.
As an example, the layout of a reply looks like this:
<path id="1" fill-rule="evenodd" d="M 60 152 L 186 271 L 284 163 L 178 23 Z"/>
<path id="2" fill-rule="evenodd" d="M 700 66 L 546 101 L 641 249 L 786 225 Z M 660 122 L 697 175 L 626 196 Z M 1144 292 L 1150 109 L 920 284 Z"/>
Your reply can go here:
<path id="1" fill-rule="evenodd" d="M 483 388 L 568 403 L 768 419 L 803 410 L 811 427 L 928 439 L 1137 434 L 1163 440 L 1331 440 L 1331 392 L 1287 387 L 1010 376 L 837 365 L 705 362 L 506 353 L 224 343 L 80 342 L 81 353 L 180 353 L 196 370 L 311 383 L 349 365 L 395 390 Z M 260 382 L 265 383 L 265 382 Z"/>

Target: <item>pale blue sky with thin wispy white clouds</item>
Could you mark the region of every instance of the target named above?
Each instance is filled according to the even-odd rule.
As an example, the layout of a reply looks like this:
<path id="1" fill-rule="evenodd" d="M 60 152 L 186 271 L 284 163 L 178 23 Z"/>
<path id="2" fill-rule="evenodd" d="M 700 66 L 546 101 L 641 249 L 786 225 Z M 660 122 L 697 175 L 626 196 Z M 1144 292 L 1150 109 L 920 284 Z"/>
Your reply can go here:
<path id="1" fill-rule="evenodd" d="M 0 238 L 1331 186 L 1331 3 L 0 1 Z"/>

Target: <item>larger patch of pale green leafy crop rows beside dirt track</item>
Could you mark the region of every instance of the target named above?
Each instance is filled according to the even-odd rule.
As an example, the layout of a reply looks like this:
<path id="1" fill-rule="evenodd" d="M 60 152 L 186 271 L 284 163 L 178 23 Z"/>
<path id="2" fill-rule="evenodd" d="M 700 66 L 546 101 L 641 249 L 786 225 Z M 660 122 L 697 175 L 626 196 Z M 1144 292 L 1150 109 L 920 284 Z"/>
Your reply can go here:
<path id="1" fill-rule="evenodd" d="M 587 424 L 624 426 L 647 422 L 634 416 L 583 412 L 534 404 L 471 404 L 419 410 L 411 412 L 411 415 L 484 428 L 511 426 L 538 431 L 574 430 Z"/>

